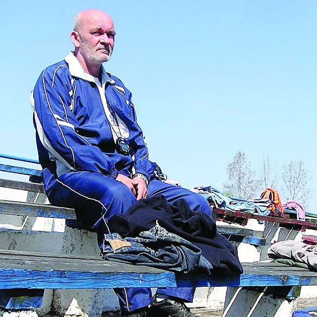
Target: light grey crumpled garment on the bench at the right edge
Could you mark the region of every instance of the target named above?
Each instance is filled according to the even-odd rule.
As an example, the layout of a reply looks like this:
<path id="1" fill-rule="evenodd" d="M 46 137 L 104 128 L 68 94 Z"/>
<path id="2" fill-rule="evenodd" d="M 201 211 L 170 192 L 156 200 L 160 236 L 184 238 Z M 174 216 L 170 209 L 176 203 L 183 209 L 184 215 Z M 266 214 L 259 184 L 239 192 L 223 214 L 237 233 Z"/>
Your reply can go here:
<path id="1" fill-rule="evenodd" d="M 269 259 L 290 259 L 317 269 L 317 246 L 300 241 L 276 242 L 267 250 L 267 257 Z"/>

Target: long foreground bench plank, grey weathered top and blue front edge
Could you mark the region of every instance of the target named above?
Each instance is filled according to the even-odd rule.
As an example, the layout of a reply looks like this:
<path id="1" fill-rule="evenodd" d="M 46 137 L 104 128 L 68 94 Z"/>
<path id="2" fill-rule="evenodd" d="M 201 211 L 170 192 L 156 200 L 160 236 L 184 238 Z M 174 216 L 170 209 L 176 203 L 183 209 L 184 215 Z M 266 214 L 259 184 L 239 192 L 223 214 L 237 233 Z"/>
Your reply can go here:
<path id="1" fill-rule="evenodd" d="M 219 277 L 103 261 L 99 257 L 0 250 L 0 289 L 317 285 L 317 272 L 276 263 L 243 264 L 245 273 Z"/>

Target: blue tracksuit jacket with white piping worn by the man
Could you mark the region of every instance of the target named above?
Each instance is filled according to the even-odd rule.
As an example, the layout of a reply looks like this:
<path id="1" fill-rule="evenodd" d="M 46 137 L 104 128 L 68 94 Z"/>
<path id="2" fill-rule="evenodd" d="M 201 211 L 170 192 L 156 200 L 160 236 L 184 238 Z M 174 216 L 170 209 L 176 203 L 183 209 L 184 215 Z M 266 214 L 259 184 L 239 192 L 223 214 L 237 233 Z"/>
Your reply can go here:
<path id="1" fill-rule="evenodd" d="M 142 173 L 154 178 L 143 133 L 136 121 L 131 92 L 102 67 L 106 100 L 129 130 L 131 156 L 118 154 L 95 78 L 83 72 L 69 53 L 47 67 L 31 95 L 39 160 L 46 190 L 69 170 L 91 171 L 116 178 Z"/>

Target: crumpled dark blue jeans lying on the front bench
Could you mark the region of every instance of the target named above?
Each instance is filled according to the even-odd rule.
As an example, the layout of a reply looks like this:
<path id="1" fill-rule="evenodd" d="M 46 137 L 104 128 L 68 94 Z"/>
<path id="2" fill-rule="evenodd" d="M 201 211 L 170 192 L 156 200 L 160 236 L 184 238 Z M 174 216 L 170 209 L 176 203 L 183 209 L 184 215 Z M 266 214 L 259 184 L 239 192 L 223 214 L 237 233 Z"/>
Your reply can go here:
<path id="1" fill-rule="evenodd" d="M 109 240 L 122 240 L 131 243 L 131 247 L 122 247 L 113 251 Z M 138 237 L 125 238 L 117 233 L 105 234 L 104 259 L 135 265 L 149 265 L 175 272 L 210 272 L 211 263 L 202 256 L 202 251 L 191 242 L 170 233 L 158 223 L 149 231 L 143 231 Z"/>

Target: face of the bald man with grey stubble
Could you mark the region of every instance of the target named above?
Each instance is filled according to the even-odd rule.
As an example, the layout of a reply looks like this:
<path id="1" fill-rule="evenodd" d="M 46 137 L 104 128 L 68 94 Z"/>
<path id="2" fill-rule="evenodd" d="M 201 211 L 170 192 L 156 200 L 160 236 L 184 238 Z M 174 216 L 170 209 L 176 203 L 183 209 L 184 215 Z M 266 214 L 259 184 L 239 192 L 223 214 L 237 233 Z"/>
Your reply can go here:
<path id="1" fill-rule="evenodd" d="M 97 13 L 84 16 L 78 33 L 78 50 L 87 62 L 102 63 L 110 59 L 115 31 L 108 15 Z"/>

